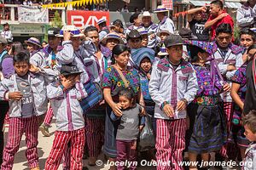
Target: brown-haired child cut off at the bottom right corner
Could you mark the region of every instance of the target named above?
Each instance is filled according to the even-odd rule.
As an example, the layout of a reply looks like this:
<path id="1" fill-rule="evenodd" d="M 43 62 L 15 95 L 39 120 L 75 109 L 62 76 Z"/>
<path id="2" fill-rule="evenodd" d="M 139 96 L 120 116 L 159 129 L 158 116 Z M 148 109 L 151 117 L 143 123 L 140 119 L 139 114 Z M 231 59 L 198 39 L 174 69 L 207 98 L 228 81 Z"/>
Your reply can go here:
<path id="1" fill-rule="evenodd" d="M 256 167 L 256 111 L 250 111 L 242 118 L 247 139 L 252 142 L 246 150 L 243 168 L 245 170 L 255 169 Z"/>

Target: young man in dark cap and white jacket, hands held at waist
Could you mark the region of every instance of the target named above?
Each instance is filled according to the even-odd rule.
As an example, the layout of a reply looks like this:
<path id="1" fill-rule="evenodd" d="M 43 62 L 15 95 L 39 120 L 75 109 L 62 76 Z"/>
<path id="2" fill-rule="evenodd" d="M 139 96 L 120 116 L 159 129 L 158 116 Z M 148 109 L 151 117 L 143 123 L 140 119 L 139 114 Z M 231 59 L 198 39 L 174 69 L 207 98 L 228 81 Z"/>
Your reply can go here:
<path id="1" fill-rule="evenodd" d="M 186 106 L 195 98 L 195 71 L 182 59 L 183 40 L 172 35 L 165 40 L 167 58 L 153 65 L 149 94 L 155 102 L 157 169 L 183 169 L 186 131 Z"/>

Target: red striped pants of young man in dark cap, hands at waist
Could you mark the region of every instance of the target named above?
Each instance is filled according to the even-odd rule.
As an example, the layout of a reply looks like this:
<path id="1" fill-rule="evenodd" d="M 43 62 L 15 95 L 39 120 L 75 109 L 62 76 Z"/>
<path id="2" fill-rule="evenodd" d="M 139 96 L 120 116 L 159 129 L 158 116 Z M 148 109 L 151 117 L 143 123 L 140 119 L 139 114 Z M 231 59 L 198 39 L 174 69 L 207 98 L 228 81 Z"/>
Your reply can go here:
<path id="1" fill-rule="evenodd" d="M 186 119 L 156 121 L 156 160 L 158 170 L 183 169 L 178 162 L 183 161 L 185 148 Z M 171 161 L 171 162 L 170 162 Z"/>

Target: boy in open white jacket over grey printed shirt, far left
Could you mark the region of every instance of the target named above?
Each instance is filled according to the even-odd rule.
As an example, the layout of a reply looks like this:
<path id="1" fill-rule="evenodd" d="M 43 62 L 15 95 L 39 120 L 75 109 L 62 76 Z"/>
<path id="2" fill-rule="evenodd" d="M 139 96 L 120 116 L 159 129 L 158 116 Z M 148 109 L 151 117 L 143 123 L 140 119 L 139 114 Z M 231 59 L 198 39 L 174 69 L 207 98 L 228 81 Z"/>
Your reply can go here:
<path id="1" fill-rule="evenodd" d="M 0 99 L 9 100 L 9 133 L 1 169 L 12 169 L 22 134 L 26 135 L 26 158 L 31 169 L 38 166 L 38 116 L 47 110 L 44 77 L 29 71 L 29 54 L 14 57 L 15 74 L 0 83 Z"/>

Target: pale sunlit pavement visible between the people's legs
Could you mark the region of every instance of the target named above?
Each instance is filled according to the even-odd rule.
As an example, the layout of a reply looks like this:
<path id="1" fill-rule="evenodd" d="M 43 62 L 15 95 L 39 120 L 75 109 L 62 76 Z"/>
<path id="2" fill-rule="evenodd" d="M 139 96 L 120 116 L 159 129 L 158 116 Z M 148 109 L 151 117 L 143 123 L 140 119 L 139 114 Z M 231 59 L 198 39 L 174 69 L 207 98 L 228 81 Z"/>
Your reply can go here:
<path id="1" fill-rule="evenodd" d="M 50 137 L 44 137 L 42 135 L 42 133 L 38 133 L 38 156 L 39 156 L 39 165 L 40 165 L 40 169 L 44 169 L 44 163 L 47 159 L 47 156 L 49 156 L 49 152 L 53 143 L 53 139 L 54 139 L 54 132 L 55 132 L 55 123 L 52 123 L 52 127 L 49 128 L 49 132 L 52 134 Z M 8 127 L 5 128 L 5 144 L 6 144 L 6 139 L 7 139 L 7 134 L 8 134 Z M 25 156 L 25 152 L 26 152 L 26 143 L 25 143 L 25 136 L 23 135 L 21 143 L 20 143 L 20 150 L 18 151 L 18 153 L 15 156 L 15 165 L 14 165 L 14 170 L 29 170 L 28 168 L 28 164 L 26 162 L 26 156 Z M 106 164 L 107 161 L 104 161 L 103 156 L 101 155 L 99 157 L 99 160 L 103 161 L 103 164 Z M 84 166 L 87 165 L 87 161 L 88 160 L 84 160 Z M 99 161 L 99 162 L 101 162 Z M 59 167 L 59 169 L 61 170 L 62 166 Z M 108 170 L 109 166 L 95 166 L 95 167 L 90 167 L 87 166 L 90 170 Z M 154 167 L 139 167 L 138 169 L 143 170 L 143 169 L 155 169 Z"/>

